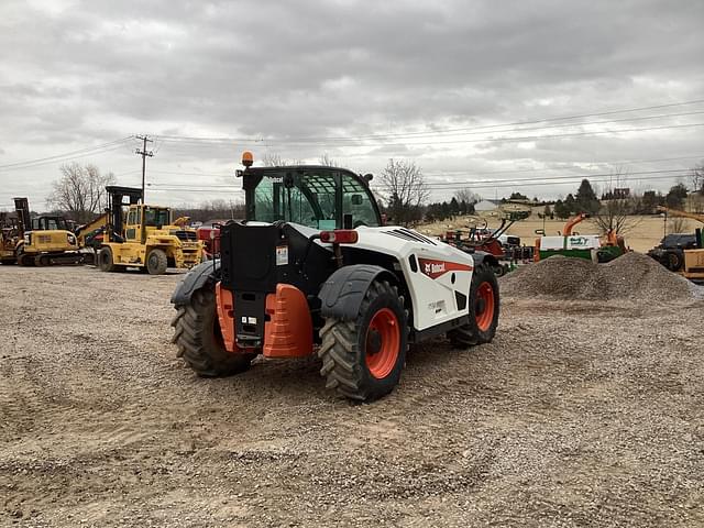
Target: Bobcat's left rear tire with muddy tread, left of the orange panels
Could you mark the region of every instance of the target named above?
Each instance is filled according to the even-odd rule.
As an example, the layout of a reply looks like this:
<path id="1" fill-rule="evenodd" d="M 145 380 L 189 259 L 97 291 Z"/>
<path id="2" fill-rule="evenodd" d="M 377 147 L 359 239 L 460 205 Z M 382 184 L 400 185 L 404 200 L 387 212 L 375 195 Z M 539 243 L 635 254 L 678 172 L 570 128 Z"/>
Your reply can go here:
<path id="1" fill-rule="evenodd" d="M 216 314 L 212 286 L 198 289 L 187 305 L 176 306 L 178 314 L 172 321 L 172 342 L 182 358 L 199 376 L 229 376 L 249 369 L 256 354 L 228 352 L 222 341 Z"/>

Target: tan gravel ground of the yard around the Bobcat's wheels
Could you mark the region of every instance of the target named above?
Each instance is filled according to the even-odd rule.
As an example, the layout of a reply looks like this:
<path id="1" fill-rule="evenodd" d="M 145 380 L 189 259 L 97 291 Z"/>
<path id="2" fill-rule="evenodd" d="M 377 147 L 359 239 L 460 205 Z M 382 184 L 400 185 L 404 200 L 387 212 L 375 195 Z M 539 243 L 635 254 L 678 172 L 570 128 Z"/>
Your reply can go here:
<path id="1" fill-rule="evenodd" d="M 505 296 L 352 405 L 314 360 L 200 380 L 180 275 L 0 266 L 0 525 L 704 526 L 704 301 Z"/>

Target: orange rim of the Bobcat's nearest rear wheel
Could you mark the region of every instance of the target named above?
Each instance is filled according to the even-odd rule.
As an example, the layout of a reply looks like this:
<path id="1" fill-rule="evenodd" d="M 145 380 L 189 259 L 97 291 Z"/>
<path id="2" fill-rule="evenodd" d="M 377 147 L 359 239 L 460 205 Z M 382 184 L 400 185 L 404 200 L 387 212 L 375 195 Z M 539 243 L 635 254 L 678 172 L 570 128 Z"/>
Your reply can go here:
<path id="1" fill-rule="evenodd" d="M 383 380 L 396 365 L 400 349 L 398 318 L 388 308 L 382 308 L 370 321 L 366 330 L 364 359 L 372 376 Z"/>

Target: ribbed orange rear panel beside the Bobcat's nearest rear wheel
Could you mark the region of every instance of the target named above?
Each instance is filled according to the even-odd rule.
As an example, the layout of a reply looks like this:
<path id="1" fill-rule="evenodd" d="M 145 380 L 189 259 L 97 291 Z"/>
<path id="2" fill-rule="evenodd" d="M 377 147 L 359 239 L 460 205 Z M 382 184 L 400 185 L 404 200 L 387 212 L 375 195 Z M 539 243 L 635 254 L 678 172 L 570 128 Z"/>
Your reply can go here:
<path id="1" fill-rule="evenodd" d="M 290 284 L 278 284 L 266 296 L 264 355 L 300 358 L 312 353 L 312 320 L 306 296 Z"/>

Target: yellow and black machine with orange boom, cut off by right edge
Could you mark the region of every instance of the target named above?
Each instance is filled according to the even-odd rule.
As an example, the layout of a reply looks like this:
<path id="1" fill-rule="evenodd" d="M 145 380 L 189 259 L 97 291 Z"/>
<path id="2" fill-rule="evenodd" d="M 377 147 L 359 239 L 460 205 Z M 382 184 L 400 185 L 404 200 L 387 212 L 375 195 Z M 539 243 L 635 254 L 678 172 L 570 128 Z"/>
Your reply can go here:
<path id="1" fill-rule="evenodd" d="M 669 207 L 660 206 L 657 209 L 673 217 L 690 218 L 704 223 L 704 215 L 686 212 Z M 686 237 L 688 242 L 682 244 L 683 237 L 674 237 L 676 242 L 671 243 L 673 235 L 662 239 L 660 245 L 648 252 L 651 256 L 671 272 L 689 278 L 690 280 L 704 280 L 704 234 L 702 228 L 695 230 L 694 237 Z"/>

